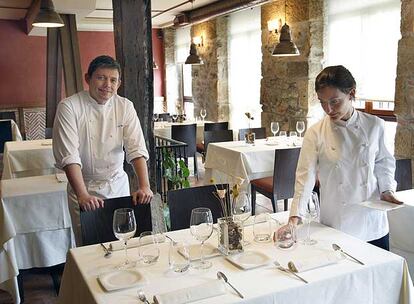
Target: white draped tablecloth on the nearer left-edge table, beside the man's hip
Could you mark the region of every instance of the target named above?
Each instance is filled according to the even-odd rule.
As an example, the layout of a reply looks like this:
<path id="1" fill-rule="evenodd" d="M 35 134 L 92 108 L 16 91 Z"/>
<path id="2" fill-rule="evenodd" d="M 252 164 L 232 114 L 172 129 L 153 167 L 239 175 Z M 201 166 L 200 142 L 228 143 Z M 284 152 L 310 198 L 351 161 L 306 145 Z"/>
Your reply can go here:
<path id="1" fill-rule="evenodd" d="M 0 288 L 16 303 L 19 269 L 64 263 L 75 246 L 66 187 L 55 175 L 1 181 Z"/>

